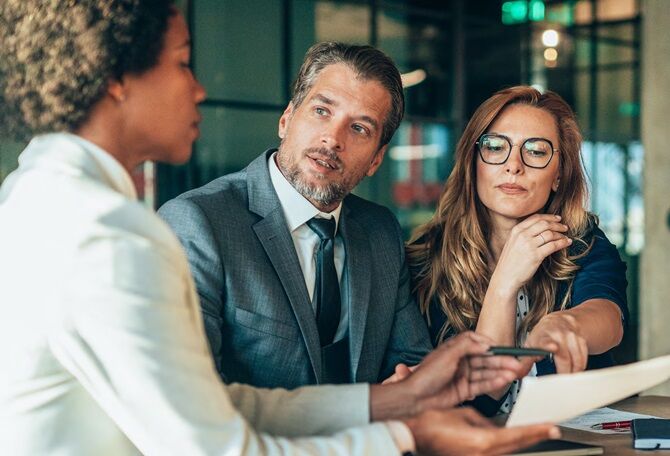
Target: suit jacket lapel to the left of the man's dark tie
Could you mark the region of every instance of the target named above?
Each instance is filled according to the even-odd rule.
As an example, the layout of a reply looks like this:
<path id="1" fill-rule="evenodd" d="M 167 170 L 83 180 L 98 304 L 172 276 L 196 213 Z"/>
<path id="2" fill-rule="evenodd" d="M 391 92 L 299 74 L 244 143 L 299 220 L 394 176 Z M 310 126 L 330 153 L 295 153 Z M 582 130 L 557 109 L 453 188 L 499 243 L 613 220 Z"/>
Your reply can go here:
<path id="1" fill-rule="evenodd" d="M 247 167 L 249 210 L 262 217 L 254 224 L 254 232 L 284 287 L 302 332 L 314 375 L 320 381 L 322 372 L 319 332 L 293 239 L 270 180 L 267 160 L 272 152 L 274 151 L 267 151 Z"/>

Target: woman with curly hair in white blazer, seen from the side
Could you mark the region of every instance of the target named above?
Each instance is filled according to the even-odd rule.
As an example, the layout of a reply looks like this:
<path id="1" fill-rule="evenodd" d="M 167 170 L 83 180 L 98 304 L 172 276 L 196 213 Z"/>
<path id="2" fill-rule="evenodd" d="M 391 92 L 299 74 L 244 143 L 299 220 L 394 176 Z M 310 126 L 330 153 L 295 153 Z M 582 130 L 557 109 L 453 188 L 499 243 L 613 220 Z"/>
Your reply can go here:
<path id="1" fill-rule="evenodd" d="M 205 92 L 189 53 L 168 0 L 0 2 L 0 134 L 34 136 L 0 189 L 0 453 L 483 453 L 556 433 L 428 405 L 369 424 L 510 378 L 512 359 L 470 361 L 488 349 L 472 333 L 397 388 L 220 382 L 186 257 L 129 174 L 191 153 Z"/>

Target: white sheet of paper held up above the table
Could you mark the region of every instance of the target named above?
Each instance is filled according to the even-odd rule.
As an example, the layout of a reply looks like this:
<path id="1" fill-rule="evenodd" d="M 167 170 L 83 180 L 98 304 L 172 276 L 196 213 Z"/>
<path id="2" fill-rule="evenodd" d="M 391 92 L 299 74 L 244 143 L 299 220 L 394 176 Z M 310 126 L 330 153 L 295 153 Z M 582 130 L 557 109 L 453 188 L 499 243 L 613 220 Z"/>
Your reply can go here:
<path id="1" fill-rule="evenodd" d="M 507 426 L 560 423 L 670 379 L 670 355 L 576 374 L 526 377 Z"/>

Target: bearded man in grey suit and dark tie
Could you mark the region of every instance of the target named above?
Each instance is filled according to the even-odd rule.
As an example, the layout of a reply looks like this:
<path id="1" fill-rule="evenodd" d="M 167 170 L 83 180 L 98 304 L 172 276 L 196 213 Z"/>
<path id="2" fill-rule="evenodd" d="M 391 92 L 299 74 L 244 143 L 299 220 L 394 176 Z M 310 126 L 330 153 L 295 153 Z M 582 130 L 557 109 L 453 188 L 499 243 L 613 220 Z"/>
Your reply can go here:
<path id="1" fill-rule="evenodd" d="M 369 46 L 313 46 L 281 144 L 159 211 L 184 245 L 226 382 L 378 382 L 431 349 L 387 209 L 350 195 L 404 111 L 400 74 Z"/>

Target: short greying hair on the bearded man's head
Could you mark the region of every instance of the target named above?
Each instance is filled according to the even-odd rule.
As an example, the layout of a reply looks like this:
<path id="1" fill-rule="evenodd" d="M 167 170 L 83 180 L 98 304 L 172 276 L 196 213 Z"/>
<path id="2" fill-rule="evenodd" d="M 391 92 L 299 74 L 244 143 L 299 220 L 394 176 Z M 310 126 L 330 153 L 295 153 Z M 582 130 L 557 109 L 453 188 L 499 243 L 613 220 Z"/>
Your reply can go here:
<path id="1" fill-rule="evenodd" d="M 405 96 L 398 68 L 386 54 L 372 46 L 323 42 L 309 48 L 293 86 L 293 107 L 297 108 L 305 100 L 319 73 L 336 63 L 348 65 L 359 78 L 378 81 L 388 91 L 391 111 L 384 120 L 379 147 L 388 144 L 402 121 Z"/>

